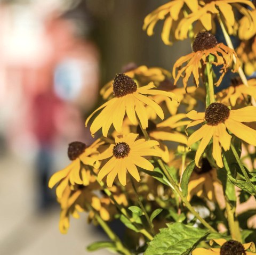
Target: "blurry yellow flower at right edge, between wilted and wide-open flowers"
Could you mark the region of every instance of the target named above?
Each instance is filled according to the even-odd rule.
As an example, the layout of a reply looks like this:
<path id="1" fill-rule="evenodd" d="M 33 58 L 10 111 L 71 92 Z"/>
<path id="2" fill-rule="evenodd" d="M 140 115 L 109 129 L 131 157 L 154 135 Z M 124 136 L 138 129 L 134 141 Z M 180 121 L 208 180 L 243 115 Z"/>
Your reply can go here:
<path id="1" fill-rule="evenodd" d="M 230 86 L 220 91 L 217 94 L 217 99 L 221 103 L 231 106 L 235 106 L 237 100 L 241 105 L 241 102 L 246 102 L 248 96 L 256 99 L 256 79 L 248 80 L 248 85 L 245 86 L 240 78 L 231 79 Z"/>

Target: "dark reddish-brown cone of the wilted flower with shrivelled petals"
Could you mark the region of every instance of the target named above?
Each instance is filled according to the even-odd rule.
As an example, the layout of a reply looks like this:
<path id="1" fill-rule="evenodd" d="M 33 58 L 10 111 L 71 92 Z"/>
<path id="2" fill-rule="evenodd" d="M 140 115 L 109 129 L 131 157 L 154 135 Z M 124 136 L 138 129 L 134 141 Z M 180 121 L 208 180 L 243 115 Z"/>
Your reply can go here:
<path id="1" fill-rule="evenodd" d="M 214 48 L 218 44 L 214 35 L 209 32 L 199 32 L 193 42 L 193 51 L 203 51 Z"/>

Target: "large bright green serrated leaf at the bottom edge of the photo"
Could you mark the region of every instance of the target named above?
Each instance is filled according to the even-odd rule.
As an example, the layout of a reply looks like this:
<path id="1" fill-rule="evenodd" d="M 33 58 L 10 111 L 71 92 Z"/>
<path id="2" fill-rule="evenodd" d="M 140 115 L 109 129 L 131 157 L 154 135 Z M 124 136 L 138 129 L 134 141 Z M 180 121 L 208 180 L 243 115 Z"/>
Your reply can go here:
<path id="1" fill-rule="evenodd" d="M 149 243 L 144 255 L 188 255 L 209 234 L 182 223 L 167 224 Z"/>

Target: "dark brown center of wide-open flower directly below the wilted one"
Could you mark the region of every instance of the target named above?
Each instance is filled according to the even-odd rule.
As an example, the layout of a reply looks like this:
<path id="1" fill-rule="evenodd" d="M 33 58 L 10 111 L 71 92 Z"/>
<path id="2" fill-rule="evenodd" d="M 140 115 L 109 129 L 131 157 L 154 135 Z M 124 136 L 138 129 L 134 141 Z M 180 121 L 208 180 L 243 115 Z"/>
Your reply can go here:
<path id="1" fill-rule="evenodd" d="M 212 103 L 205 111 L 205 120 L 208 125 L 216 126 L 228 119 L 229 112 L 230 110 L 225 104 Z"/>

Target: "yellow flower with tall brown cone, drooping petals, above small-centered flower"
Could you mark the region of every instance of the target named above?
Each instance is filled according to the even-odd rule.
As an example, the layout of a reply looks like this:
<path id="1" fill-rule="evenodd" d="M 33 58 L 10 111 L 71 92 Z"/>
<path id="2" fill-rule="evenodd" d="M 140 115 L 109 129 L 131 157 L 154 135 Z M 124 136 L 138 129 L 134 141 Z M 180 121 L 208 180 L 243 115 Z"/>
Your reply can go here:
<path id="1" fill-rule="evenodd" d="M 89 120 L 96 112 L 103 109 L 92 122 L 90 127 L 92 135 L 102 128 L 103 136 L 107 137 L 108 130 L 112 124 L 116 131 L 121 134 L 125 113 L 134 125 L 137 123 L 137 114 L 142 128 L 146 129 L 148 127 L 148 118 L 145 105 L 150 106 L 151 110 L 155 111 L 161 119 L 164 119 L 164 112 L 153 99 L 145 95 L 164 95 L 174 98 L 174 94 L 171 92 L 159 91 L 152 88 L 155 88 L 153 83 L 137 88 L 137 84 L 132 78 L 120 73 L 116 76 L 113 83 L 113 94 L 115 97 L 95 110 L 87 118 L 85 125 L 87 126 Z M 170 98 L 169 100 L 171 100 Z"/>

